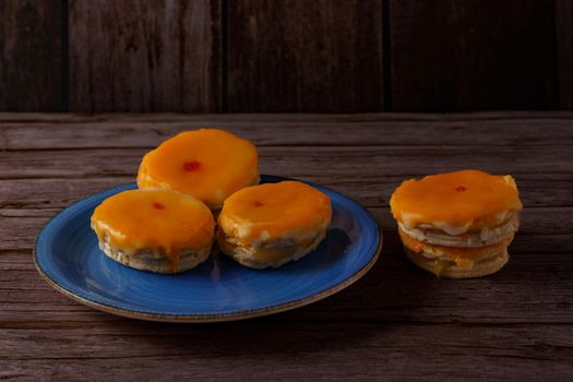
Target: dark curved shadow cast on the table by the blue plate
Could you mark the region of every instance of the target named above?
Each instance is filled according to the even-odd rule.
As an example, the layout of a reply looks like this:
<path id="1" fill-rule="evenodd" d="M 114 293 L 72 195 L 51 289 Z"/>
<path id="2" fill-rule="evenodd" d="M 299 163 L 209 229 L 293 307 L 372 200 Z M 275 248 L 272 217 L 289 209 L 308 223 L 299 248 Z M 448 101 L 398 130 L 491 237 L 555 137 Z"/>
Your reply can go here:
<path id="1" fill-rule="evenodd" d="M 396 238 L 389 238 L 395 241 Z M 390 248 L 397 248 L 391 242 Z M 325 300 L 265 318 L 210 324 L 120 320 L 130 345 L 193 355 L 193 358 L 289 357 L 325 349 L 353 349 L 399 322 L 416 321 L 416 309 L 435 278 L 399 253 L 381 254 L 355 285 Z M 432 287 L 433 285 L 433 287 Z M 391 323 L 391 324 L 389 324 Z"/>

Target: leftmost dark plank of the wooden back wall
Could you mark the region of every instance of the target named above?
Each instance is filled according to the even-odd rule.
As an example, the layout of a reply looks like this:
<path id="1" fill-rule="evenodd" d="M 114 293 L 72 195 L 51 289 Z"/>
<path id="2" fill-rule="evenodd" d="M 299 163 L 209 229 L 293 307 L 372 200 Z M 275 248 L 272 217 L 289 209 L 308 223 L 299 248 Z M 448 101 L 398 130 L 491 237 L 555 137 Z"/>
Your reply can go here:
<path id="1" fill-rule="evenodd" d="M 67 108 L 62 1 L 0 1 L 0 110 Z"/>

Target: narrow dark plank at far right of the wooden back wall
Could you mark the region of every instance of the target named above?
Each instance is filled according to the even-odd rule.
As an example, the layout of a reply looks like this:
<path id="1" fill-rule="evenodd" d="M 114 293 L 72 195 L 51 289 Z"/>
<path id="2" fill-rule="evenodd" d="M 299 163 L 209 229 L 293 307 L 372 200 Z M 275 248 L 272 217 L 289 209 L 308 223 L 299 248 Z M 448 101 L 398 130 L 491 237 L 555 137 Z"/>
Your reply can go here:
<path id="1" fill-rule="evenodd" d="M 556 0 L 559 108 L 573 110 L 573 3 Z"/>

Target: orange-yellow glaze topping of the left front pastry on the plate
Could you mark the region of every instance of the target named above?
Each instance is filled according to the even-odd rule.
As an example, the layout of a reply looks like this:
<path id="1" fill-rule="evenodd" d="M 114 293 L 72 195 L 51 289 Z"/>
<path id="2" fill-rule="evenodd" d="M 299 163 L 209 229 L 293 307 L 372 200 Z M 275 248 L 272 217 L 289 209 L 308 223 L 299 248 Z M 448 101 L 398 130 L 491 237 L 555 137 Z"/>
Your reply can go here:
<path id="1" fill-rule="evenodd" d="M 106 199 L 92 215 L 100 241 L 138 254 L 163 251 L 177 262 L 183 249 L 200 249 L 213 241 L 215 220 L 201 201 L 168 190 L 130 190 Z"/>

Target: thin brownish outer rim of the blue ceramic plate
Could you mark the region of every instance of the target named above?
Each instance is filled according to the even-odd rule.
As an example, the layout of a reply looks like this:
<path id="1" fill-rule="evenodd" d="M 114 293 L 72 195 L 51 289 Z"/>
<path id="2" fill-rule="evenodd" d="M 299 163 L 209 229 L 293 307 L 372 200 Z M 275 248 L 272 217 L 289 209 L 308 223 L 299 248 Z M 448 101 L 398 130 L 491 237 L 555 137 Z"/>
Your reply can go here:
<path id="1" fill-rule="evenodd" d="M 353 203 L 355 203 L 360 208 L 362 208 L 366 212 L 366 216 L 373 224 L 373 226 L 375 228 L 375 231 L 377 231 L 378 246 L 377 246 L 377 249 L 374 250 L 374 253 L 372 254 L 372 258 L 370 259 L 370 261 L 368 263 L 366 263 L 362 267 L 360 267 L 358 271 L 356 271 L 351 276 L 347 277 L 343 282 L 341 282 L 341 283 L 334 285 L 333 287 L 331 287 L 331 288 L 329 288 L 326 290 L 323 290 L 321 293 L 313 294 L 313 295 L 307 296 L 307 297 L 302 297 L 300 299 L 277 303 L 277 305 L 270 306 L 270 307 L 247 309 L 247 310 L 241 310 L 241 311 L 238 311 L 238 312 L 229 312 L 229 313 L 174 314 L 174 313 L 155 313 L 155 312 L 136 310 L 136 309 L 120 308 L 120 307 L 117 307 L 117 306 L 107 305 L 107 303 L 103 303 L 103 302 L 99 302 L 99 301 L 94 301 L 94 300 L 92 300 L 89 298 L 80 296 L 76 293 L 74 293 L 73 290 L 69 290 L 67 287 L 58 284 L 57 280 L 52 279 L 52 277 L 47 272 L 45 272 L 45 270 L 41 267 L 41 265 L 38 262 L 38 248 L 39 248 L 39 244 L 40 244 L 40 241 L 41 241 L 40 239 L 43 239 L 41 236 L 45 235 L 45 231 L 46 231 L 47 227 L 50 224 L 52 224 L 52 222 L 56 218 L 58 218 L 61 214 L 63 214 L 65 211 L 68 211 L 70 207 L 72 207 L 72 206 L 74 206 L 76 204 L 83 203 L 83 202 L 85 202 L 85 201 L 87 201 L 89 199 L 95 199 L 95 198 L 99 196 L 100 194 L 114 192 L 116 189 L 119 190 L 119 189 L 126 188 L 127 186 L 133 184 L 133 182 L 130 182 L 130 183 L 115 186 L 115 187 L 111 187 L 111 188 L 106 189 L 104 191 L 99 191 L 99 192 L 93 193 L 93 194 L 91 194 L 91 195 L 88 195 L 86 198 L 79 199 L 75 202 L 73 202 L 72 204 L 70 204 L 67 207 L 64 207 L 61 211 L 59 211 L 48 222 L 46 222 L 46 224 L 44 224 L 44 226 L 40 228 L 40 230 L 39 230 L 39 232 L 38 232 L 38 235 L 36 237 L 35 243 L 34 243 L 34 248 L 33 248 L 34 265 L 35 265 L 36 270 L 38 271 L 38 273 L 40 274 L 40 276 L 44 278 L 44 280 L 46 280 L 46 283 L 48 285 L 50 285 L 53 289 L 56 289 L 60 294 L 67 296 L 68 298 L 71 298 L 72 300 L 77 301 L 77 302 L 80 302 L 82 305 L 85 305 L 85 306 L 87 306 L 89 308 L 93 308 L 93 309 L 96 309 L 96 310 L 99 310 L 99 311 L 104 311 L 104 312 L 107 312 L 107 313 L 111 313 L 111 314 L 126 317 L 126 318 L 129 318 L 129 319 L 138 319 L 138 320 L 144 320 L 144 321 L 155 321 L 155 322 L 181 322 L 181 323 L 208 323 L 208 322 L 238 321 L 238 320 L 254 319 L 254 318 L 258 318 L 258 317 L 264 317 L 264 315 L 270 315 L 270 314 L 275 314 L 275 313 L 279 313 L 279 312 L 285 312 L 285 311 L 288 311 L 288 310 L 297 309 L 297 308 L 300 308 L 300 307 L 303 307 L 303 306 L 307 306 L 307 305 L 320 301 L 320 300 L 322 300 L 322 299 L 324 299 L 326 297 L 330 297 L 332 295 L 335 295 L 335 294 L 342 291 L 343 289 L 346 289 L 347 287 L 349 287 L 350 285 L 353 285 L 354 283 L 356 283 L 360 278 L 362 278 L 368 273 L 368 271 L 370 271 L 370 268 L 378 261 L 378 259 L 380 256 L 380 253 L 382 251 L 383 236 L 382 236 L 382 231 L 380 229 L 380 226 L 379 226 L 378 222 L 375 220 L 375 218 L 372 216 L 372 214 L 365 206 L 362 206 L 360 203 L 358 203 L 353 198 L 347 196 L 346 194 L 343 194 L 341 192 L 334 191 L 334 190 L 332 190 L 332 189 L 330 189 L 327 187 L 324 187 L 322 184 L 318 184 L 318 183 L 306 181 L 306 180 L 299 180 L 299 179 L 295 179 L 295 178 L 287 178 L 287 177 L 282 177 L 282 176 L 275 176 L 275 175 L 261 175 L 261 178 L 264 178 L 264 177 L 279 179 L 279 180 L 298 180 L 298 181 L 302 181 L 302 182 L 305 182 L 307 184 L 310 184 L 310 186 L 312 186 L 314 188 L 318 186 L 319 188 L 326 189 L 330 192 L 333 192 L 335 194 L 339 194 L 339 195 L 350 200 Z"/>

